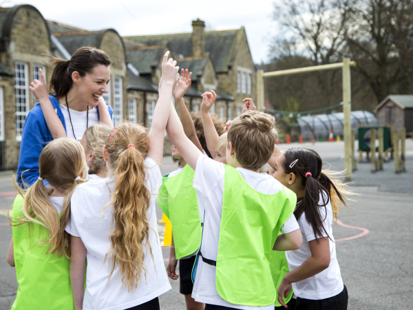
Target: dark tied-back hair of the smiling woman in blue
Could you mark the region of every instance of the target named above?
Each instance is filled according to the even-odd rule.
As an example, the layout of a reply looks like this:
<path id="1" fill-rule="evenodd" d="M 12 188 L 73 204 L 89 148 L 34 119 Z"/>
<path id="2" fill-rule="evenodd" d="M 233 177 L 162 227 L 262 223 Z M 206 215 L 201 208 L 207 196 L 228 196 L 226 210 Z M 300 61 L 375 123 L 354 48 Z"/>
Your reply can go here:
<path id="1" fill-rule="evenodd" d="M 111 65 L 112 61 L 103 50 L 85 46 L 78 48 L 72 55 L 72 58 L 67 61 L 54 56 L 49 56 L 53 72 L 50 79 L 50 90 L 57 98 L 63 97 L 69 92 L 72 87 L 72 73 L 78 72 L 80 76 L 85 76 L 87 73 L 92 73 L 96 65 Z"/>

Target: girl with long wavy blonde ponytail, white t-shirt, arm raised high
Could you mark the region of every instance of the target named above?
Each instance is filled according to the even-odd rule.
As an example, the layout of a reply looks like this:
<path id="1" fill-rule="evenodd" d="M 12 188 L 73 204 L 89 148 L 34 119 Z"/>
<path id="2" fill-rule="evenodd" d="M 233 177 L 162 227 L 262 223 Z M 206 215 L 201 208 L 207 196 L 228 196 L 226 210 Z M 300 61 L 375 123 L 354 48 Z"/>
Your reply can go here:
<path id="1" fill-rule="evenodd" d="M 133 123 L 114 127 L 103 149 L 109 177 L 80 185 L 70 200 L 65 231 L 76 309 L 159 309 L 158 296 L 171 289 L 155 210 L 171 93 L 178 81 L 176 61 L 168 55 L 149 134 Z"/>

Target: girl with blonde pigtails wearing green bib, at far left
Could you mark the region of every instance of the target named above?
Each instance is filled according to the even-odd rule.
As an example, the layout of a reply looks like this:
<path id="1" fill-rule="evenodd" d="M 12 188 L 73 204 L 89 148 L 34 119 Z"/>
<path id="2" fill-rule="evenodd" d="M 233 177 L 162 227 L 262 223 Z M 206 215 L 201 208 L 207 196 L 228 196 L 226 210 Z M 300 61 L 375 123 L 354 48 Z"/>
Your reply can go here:
<path id="1" fill-rule="evenodd" d="M 16 267 L 17 296 L 12 309 L 74 309 L 68 244 L 61 227 L 67 195 L 85 182 L 83 149 L 74 139 L 59 138 L 45 146 L 39 158 L 39 178 L 27 192 L 18 185 L 12 219 L 13 238 L 8 263 Z M 45 187 L 47 180 L 51 187 Z"/>

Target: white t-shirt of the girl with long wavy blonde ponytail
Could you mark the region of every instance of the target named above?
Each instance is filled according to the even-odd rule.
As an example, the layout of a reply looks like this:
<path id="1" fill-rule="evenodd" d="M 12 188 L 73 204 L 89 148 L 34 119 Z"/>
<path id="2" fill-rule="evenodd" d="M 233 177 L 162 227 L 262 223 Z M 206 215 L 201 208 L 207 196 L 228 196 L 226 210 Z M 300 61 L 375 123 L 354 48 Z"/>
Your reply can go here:
<path id="1" fill-rule="evenodd" d="M 110 193 L 114 191 L 114 178 L 91 180 L 79 185 L 72 195 L 70 220 L 65 230 L 72 236 L 80 237 L 86 247 L 87 270 L 86 289 L 83 309 L 123 310 L 143 304 L 169 291 L 171 285 L 167 278 L 160 248 L 156 222 L 155 203 L 158 190 L 162 185 L 162 175 L 158 165 L 151 159 L 145 159 L 147 179 L 145 186 L 151 192 L 151 202 L 147 211 L 149 244 L 153 260 L 147 247 L 144 264 L 147 269 L 146 280 L 142 271 L 138 289 L 128 292 L 127 285 L 122 286 L 122 273 L 115 267 L 109 285 L 107 278 L 112 270 L 110 258 L 104 262 L 110 249 L 109 236 L 112 225 L 112 207 L 103 207 L 109 203 Z"/>

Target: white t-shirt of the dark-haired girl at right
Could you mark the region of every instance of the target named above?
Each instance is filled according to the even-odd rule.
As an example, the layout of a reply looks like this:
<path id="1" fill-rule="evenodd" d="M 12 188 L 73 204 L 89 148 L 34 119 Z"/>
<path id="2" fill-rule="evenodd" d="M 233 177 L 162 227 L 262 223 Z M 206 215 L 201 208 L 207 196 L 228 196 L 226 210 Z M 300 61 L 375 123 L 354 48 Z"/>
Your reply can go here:
<path id="1" fill-rule="evenodd" d="M 324 195 L 327 195 L 324 192 Z M 325 198 L 326 199 L 326 198 Z M 320 194 L 320 203 L 323 203 L 323 198 Z M 327 210 L 327 216 L 326 216 Z M 343 280 L 341 279 L 339 262 L 337 262 L 337 256 L 335 251 L 335 240 L 332 236 L 332 209 L 330 200 L 326 207 L 320 207 L 321 218 L 325 218 L 323 221 L 324 229 L 330 236 L 330 266 L 317 273 L 311 278 L 293 283 L 293 291 L 295 296 L 299 298 L 306 298 L 311 300 L 320 300 L 336 296 L 343 291 Z M 301 266 L 311 256 L 309 241 L 315 240 L 313 227 L 307 222 L 306 214 L 303 213 L 298 219 L 299 229 L 303 236 L 303 245 L 295 251 L 286 251 L 286 257 L 288 261 L 288 267 L 290 271 L 293 271 L 297 267 Z M 327 234 L 322 231 L 322 235 L 327 237 Z"/>

